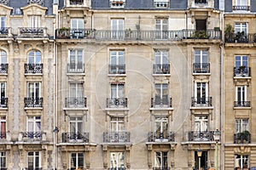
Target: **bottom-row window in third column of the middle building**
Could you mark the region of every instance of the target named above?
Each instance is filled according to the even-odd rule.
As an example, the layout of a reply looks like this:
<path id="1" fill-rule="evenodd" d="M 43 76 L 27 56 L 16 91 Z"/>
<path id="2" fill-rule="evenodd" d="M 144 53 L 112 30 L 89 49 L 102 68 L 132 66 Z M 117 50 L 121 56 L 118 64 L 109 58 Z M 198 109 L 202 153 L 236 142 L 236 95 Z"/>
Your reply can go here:
<path id="1" fill-rule="evenodd" d="M 155 169 L 169 169 L 168 168 L 168 152 L 155 151 L 154 152 L 154 168 Z"/>

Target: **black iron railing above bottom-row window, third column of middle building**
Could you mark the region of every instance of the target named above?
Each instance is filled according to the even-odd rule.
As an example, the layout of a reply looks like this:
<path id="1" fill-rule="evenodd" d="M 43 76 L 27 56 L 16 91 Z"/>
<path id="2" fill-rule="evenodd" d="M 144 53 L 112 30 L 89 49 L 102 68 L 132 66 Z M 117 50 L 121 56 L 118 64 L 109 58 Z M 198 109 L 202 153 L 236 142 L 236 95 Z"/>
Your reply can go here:
<path id="1" fill-rule="evenodd" d="M 174 142 L 175 134 L 173 132 L 149 132 L 148 142 Z"/>

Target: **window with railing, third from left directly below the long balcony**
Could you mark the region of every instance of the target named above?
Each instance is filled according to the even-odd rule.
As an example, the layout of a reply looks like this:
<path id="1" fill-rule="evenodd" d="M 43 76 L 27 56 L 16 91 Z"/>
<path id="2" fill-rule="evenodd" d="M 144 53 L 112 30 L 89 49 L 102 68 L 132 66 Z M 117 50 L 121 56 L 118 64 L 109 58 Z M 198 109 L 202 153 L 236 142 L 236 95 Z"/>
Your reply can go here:
<path id="1" fill-rule="evenodd" d="M 169 53 L 167 50 L 154 52 L 154 74 L 170 74 Z"/>

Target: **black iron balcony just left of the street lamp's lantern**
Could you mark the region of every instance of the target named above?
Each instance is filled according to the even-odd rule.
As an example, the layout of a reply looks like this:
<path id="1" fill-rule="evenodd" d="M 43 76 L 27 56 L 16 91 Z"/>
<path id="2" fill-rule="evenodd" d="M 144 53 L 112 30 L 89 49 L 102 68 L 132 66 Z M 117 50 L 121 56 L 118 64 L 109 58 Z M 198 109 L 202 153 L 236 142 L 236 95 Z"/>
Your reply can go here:
<path id="1" fill-rule="evenodd" d="M 214 131 L 190 131 L 189 141 L 214 141 Z"/>

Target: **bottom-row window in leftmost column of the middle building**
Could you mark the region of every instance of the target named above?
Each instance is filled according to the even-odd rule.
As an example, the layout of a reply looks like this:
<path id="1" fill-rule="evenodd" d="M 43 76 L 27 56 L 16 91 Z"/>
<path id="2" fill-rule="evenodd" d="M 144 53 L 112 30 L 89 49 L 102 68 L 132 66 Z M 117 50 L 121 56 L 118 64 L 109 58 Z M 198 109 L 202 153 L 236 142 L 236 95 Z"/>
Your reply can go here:
<path id="1" fill-rule="evenodd" d="M 70 154 L 70 170 L 84 169 L 84 153 Z"/>

